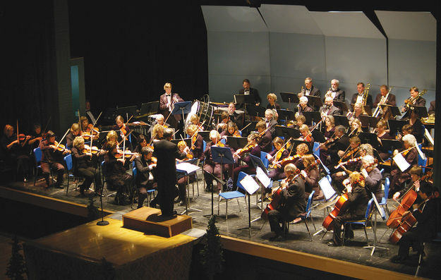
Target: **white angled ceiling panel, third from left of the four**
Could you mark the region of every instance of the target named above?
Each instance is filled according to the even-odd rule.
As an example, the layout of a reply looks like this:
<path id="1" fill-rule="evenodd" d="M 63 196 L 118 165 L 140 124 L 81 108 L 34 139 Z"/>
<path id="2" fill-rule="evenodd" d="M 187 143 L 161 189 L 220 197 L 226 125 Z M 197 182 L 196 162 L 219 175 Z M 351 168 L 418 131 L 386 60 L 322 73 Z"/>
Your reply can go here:
<path id="1" fill-rule="evenodd" d="M 363 12 L 310 12 L 310 15 L 325 36 L 384 38 Z"/>

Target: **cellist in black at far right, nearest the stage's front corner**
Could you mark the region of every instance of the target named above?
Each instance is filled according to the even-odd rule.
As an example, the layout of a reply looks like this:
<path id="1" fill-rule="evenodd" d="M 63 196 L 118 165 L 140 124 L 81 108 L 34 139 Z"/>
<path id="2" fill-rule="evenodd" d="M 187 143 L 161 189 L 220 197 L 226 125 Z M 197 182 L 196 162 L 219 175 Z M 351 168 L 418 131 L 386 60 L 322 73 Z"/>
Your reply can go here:
<path id="1" fill-rule="evenodd" d="M 433 195 L 431 185 L 421 185 L 418 191 L 418 197 L 423 201 L 422 205 L 413 205 L 411 212 L 415 217 L 417 224 L 410 231 L 403 233 L 399 239 L 398 255 L 391 258 L 392 262 L 402 263 L 409 258 L 409 248 L 413 252 L 423 253 L 423 242 L 430 241 L 436 233 L 437 201 L 430 199 Z M 418 208 L 419 206 L 419 208 Z"/>

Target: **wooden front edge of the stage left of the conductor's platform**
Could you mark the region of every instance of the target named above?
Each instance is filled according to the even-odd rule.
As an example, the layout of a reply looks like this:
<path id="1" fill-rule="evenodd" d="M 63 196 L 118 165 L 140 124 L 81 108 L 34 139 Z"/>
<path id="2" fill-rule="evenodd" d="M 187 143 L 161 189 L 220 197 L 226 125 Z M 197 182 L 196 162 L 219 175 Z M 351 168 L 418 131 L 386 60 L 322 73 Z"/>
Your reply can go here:
<path id="1" fill-rule="evenodd" d="M 87 217 L 87 205 L 82 205 L 75 202 L 68 202 L 66 200 L 59 200 L 44 195 L 37 195 L 35 193 L 29 193 L 23 190 L 16 190 L 13 188 L 0 186 L 0 197 L 68 214 L 73 214 L 80 217 Z M 99 209 L 99 211 L 101 211 L 100 207 L 97 208 Z M 104 209 L 104 216 L 107 216 L 109 214 L 114 214 L 114 212 Z"/>

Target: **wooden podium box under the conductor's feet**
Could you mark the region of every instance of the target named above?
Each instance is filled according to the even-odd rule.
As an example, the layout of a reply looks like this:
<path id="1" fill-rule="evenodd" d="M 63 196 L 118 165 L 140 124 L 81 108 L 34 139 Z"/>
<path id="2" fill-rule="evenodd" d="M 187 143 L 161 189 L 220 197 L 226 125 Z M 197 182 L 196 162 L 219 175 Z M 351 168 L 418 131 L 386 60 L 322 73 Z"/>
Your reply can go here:
<path id="1" fill-rule="evenodd" d="M 123 227 L 153 233 L 158 236 L 176 236 L 192 228 L 191 217 L 187 215 L 174 215 L 162 217 L 161 210 L 142 207 L 123 215 Z"/>

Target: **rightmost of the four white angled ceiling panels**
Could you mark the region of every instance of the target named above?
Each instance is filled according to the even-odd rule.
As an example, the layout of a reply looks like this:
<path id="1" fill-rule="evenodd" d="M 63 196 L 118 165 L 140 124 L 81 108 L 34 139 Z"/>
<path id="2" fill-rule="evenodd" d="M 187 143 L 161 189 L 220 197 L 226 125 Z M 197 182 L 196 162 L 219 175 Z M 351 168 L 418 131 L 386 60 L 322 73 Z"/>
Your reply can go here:
<path id="1" fill-rule="evenodd" d="M 389 39 L 436 41 L 436 19 L 428 12 L 375 11 Z"/>

